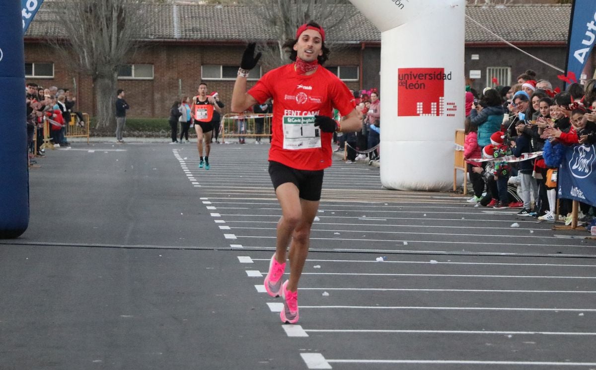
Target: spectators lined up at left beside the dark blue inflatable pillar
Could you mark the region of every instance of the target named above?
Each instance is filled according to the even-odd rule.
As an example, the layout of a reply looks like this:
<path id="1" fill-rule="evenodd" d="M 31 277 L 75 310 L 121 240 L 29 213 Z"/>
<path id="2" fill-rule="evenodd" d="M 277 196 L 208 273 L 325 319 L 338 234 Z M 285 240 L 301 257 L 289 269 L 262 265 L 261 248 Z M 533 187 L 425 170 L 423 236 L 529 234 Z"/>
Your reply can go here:
<path id="1" fill-rule="evenodd" d="M 57 87 L 44 88 L 27 82 L 26 84 L 26 105 L 27 105 L 27 150 L 30 163 L 35 163 L 35 156 L 45 155 L 44 143 L 44 122 L 48 122 L 50 143 L 54 147 L 68 147 L 70 143 L 66 140 L 66 125 L 70 122 L 70 114 L 76 113 L 78 124 L 85 125 L 83 116 L 74 111 L 76 97 L 69 89 L 58 89 Z"/>

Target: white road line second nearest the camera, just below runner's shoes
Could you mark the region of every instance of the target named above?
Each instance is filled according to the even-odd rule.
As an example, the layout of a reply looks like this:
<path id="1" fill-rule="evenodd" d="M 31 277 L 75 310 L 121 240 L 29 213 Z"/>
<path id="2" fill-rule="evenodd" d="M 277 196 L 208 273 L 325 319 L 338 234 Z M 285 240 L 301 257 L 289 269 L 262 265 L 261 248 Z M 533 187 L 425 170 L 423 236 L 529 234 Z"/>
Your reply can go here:
<path id="1" fill-rule="evenodd" d="M 285 325 L 284 325 L 285 326 Z M 290 325 L 288 325 L 290 326 Z M 298 325 L 299 326 L 299 325 Z M 303 329 L 306 333 L 408 333 L 408 334 L 498 334 L 498 335 L 578 335 L 594 336 L 596 332 L 557 332 L 557 331 L 484 331 L 484 330 L 391 330 L 391 329 Z M 298 335 L 294 335 L 298 337 Z M 303 335 L 308 336 L 308 335 Z M 288 334 L 288 337 L 291 335 Z"/>

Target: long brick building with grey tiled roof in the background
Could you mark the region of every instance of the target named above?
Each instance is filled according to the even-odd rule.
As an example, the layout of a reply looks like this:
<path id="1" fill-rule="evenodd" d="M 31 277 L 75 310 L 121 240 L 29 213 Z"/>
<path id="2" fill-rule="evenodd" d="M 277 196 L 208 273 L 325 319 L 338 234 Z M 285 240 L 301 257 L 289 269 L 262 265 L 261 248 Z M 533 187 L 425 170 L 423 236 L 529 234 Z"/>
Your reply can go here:
<path id="1" fill-rule="evenodd" d="M 76 86 L 79 109 L 94 115 L 91 78 L 68 70 L 44 41 L 44 35 L 60 35 L 52 21 L 55 6 L 44 4 L 25 35 L 26 79 L 44 87 Z M 328 32 L 328 39 L 335 44 L 330 45 L 332 53 L 325 66 L 349 88 L 378 88 L 380 32 L 352 5 L 344 6 L 355 15 L 341 29 Z M 122 67 L 118 84 L 127 92 L 132 117 L 167 116 L 172 102 L 182 95 L 194 95 L 201 80 L 207 82 L 209 91 L 218 91 L 229 106 L 246 43 L 275 41 L 274 33 L 242 5 L 150 4 L 146 11 L 151 21 L 139 35 L 142 49 Z M 570 5 L 474 5 L 467 7 L 466 15 L 468 84 L 479 90 L 490 85 L 495 76 L 499 84 L 509 85 L 524 70 L 533 69 L 539 77 L 560 85 L 556 78 L 560 72 L 505 44 L 486 29 L 564 69 Z M 266 67 L 260 72 L 265 73 Z"/>

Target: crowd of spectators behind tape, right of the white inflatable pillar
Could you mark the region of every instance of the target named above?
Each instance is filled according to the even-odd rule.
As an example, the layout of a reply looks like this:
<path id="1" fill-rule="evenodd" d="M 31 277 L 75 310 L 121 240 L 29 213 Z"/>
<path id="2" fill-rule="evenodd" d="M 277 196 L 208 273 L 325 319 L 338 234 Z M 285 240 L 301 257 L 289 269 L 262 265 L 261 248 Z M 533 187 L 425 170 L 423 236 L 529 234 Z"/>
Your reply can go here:
<path id="1" fill-rule="evenodd" d="M 570 224 L 571 200 L 558 199 L 557 212 L 557 168 L 565 146 L 596 143 L 596 79 L 560 91 L 527 70 L 513 86 L 468 87 L 465 94 L 464 158 L 474 192 L 467 201 Z M 491 160 L 474 161 L 482 158 Z M 592 226 L 595 207 L 579 209 L 579 224 Z"/>

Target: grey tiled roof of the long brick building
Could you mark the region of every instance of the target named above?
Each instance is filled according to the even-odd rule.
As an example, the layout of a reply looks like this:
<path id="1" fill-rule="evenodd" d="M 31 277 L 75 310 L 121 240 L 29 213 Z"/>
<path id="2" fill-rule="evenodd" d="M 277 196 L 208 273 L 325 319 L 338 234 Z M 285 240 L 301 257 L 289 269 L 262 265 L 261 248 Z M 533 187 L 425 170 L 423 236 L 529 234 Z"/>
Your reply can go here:
<path id="1" fill-rule="evenodd" d="M 58 2 L 45 2 L 27 30 L 26 37 L 61 36 L 52 21 Z M 341 5 L 355 13 L 341 29 L 331 29 L 337 42 L 379 42 L 381 34 L 352 5 Z M 272 41 L 275 32 L 244 5 L 146 4 L 148 18 L 139 38 L 197 41 Z M 570 5 L 520 4 L 507 6 L 468 5 L 466 16 L 510 42 L 566 42 Z M 175 16 L 176 15 L 176 16 Z M 322 22 L 323 25 L 325 22 Z M 470 19 L 465 20 L 466 42 L 499 41 Z"/>

